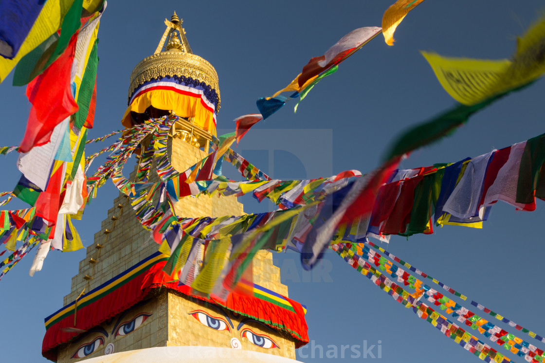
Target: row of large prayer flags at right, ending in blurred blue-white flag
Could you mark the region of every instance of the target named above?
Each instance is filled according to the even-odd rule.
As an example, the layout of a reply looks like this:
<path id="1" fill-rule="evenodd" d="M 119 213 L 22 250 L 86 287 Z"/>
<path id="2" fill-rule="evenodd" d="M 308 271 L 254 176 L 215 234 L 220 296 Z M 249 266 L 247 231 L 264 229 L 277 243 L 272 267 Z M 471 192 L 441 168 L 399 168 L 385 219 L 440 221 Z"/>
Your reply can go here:
<path id="1" fill-rule="evenodd" d="M 433 214 L 436 225 L 480 228 L 488 217 L 490 206 L 498 200 L 520 210 L 535 210 L 535 197 L 545 198 L 545 177 L 541 178 L 545 162 L 544 140 L 545 135 L 540 135 L 531 139 L 530 146 L 528 142 L 514 144 L 446 167 L 438 165 L 413 171 L 390 169 L 379 173 L 380 180 L 376 175 L 355 180 L 350 192 L 340 190 L 325 200 L 326 205 L 342 208 L 326 208 L 328 214 L 320 214 L 318 218 L 323 222 L 313 225 L 310 234 L 302 239 L 303 265 L 311 268 L 334 232 L 348 223 L 354 225 L 355 216 L 369 219 L 367 233 L 362 237 L 377 235 L 381 239 L 388 234 L 432 233 Z M 521 168 L 522 164 L 526 166 Z M 393 181 L 386 183 L 388 180 Z M 368 187 L 369 183 L 375 183 L 372 189 Z M 367 190 L 367 195 L 362 190 Z M 459 195 L 470 195 L 471 198 L 460 199 Z M 360 202 L 356 202 L 358 198 L 361 198 Z M 370 201 L 373 203 L 367 204 Z"/>

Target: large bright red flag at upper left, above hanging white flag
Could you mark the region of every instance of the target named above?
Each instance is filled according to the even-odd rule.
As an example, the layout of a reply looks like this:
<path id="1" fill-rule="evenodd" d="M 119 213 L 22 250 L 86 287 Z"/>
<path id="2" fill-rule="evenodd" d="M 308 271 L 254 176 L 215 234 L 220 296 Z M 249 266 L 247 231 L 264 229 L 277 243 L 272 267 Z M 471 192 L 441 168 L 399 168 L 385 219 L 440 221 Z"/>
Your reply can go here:
<path id="1" fill-rule="evenodd" d="M 32 103 L 20 153 L 49 142 L 51 133 L 78 107 L 70 89 L 70 72 L 76 50 L 77 33 L 72 35 L 64 53 L 41 75 L 28 84 L 27 97 Z"/>

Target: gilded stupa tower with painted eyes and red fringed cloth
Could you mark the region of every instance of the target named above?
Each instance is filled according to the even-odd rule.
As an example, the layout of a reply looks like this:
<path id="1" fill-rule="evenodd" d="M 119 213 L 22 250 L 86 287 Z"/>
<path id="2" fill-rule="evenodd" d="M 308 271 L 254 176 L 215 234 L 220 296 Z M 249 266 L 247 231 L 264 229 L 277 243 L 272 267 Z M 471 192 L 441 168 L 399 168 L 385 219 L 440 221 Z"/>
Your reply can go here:
<path id="1" fill-rule="evenodd" d="M 149 118 L 178 116 L 167 148 L 172 166 L 182 172 L 208 154 L 216 136 L 220 89 L 214 67 L 193 54 L 182 20 L 174 13 L 165 25 L 154 54 L 132 71 L 122 123 L 130 128 Z M 159 180 L 154 170 L 149 178 Z M 131 180 L 136 178 L 132 173 Z M 244 214 L 235 196 L 185 197 L 174 209 L 184 217 Z M 116 361 L 123 361 L 123 354 L 136 354 L 132 361 L 154 361 L 149 356 L 181 361 L 180 354 L 183 361 L 220 356 L 224 361 L 284 361 L 295 359 L 295 348 L 308 341 L 304 307 L 287 298 L 270 252 L 261 251 L 253 261 L 256 293 L 233 293 L 228 304 L 221 304 L 171 281 L 161 271 L 166 256 L 158 248 L 136 219 L 130 198 L 116 198 L 72 278 L 64 307 L 46 318 L 44 356 L 58 362 L 110 361 L 100 358 L 108 354 Z M 244 358 L 233 348 L 253 355 Z"/>

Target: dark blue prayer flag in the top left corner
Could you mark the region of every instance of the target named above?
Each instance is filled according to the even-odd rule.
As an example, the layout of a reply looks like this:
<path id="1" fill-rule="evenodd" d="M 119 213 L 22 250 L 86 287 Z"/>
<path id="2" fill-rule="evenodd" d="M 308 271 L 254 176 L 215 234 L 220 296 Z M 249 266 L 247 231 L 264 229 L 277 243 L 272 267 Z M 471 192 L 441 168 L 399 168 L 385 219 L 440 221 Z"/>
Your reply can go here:
<path id="1" fill-rule="evenodd" d="M 45 0 L 5 0 L 0 3 L 0 56 L 13 59 L 38 18 Z"/>

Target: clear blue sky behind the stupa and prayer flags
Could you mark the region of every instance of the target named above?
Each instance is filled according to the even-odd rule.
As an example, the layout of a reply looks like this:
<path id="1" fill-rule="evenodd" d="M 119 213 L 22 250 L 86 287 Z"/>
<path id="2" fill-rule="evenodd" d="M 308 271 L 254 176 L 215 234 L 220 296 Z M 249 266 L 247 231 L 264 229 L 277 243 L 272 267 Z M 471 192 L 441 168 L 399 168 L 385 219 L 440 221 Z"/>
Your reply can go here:
<path id="1" fill-rule="evenodd" d="M 163 20 L 173 10 L 184 19 L 193 52 L 217 70 L 222 105 L 218 128 L 230 132 L 235 117 L 257 112 L 255 101 L 286 86 L 308 59 L 323 55 L 355 28 L 380 26 L 392 2 L 111 1 L 99 31 L 98 101 L 89 137 L 122 127 L 130 72 L 154 52 L 165 28 Z M 294 102 L 288 104 L 255 126 L 237 151 L 275 178 L 370 171 L 399 132 L 455 104 L 419 50 L 444 56 L 508 58 L 516 36 L 540 14 L 543 3 L 537 0 L 423 2 L 398 27 L 395 46 L 387 46 L 380 35 L 315 87 L 296 114 Z M 542 134 L 544 90 L 541 80 L 497 102 L 451 137 L 415 152 L 403 167 L 458 161 Z M 15 145 L 22 138 L 30 109 L 25 88 L 12 87 L 9 77 L 0 85 L 0 100 L 0 146 Z M 93 145 L 88 152 L 106 145 Z M 0 191 L 11 190 L 19 179 L 16 155 L 1 159 Z M 92 170 L 98 165 L 95 161 Z M 116 195 L 108 182 L 86 209 L 84 221 L 75 223 L 86 246 L 92 244 Z M 248 213 L 272 208 L 250 198 L 242 201 Z M 433 235 L 408 240 L 393 236 L 387 249 L 469 299 L 543 335 L 543 205 L 538 202 L 536 211 L 529 213 L 498 203 L 483 229 L 445 226 Z M 7 208 L 25 205 L 12 202 Z M 45 360 L 40 353 L 43 319 L 62 307 L 84 251 L 50 253 L 43 270 L 31 278 L 28 269 L 33 255 L 0 281 L 2 361 Z M 328 253 L 322 271 L 311 274 L 301 272 L 298 255 L 277 254 L 275 260 L 290 298 L 308 308 L 308 334 L 314 346 L 327 350 L 331 344 L 340 349 L 342 344 L 363 346 L 367 341 L 369 347 L 380 341 L 385 361 L 477 361 L 336 254 Z M 373 353 L 378 354 L 378 347 Z M 306 354 L 311 355 L 311 349 L 303 350 L 298 359 L 316 360 L 305 359 Z M 314 355 L 319 356 L 318 348 Z M 350 361 L 364 360 L 349 358 L 349 351 L 346 356 Z"/>

